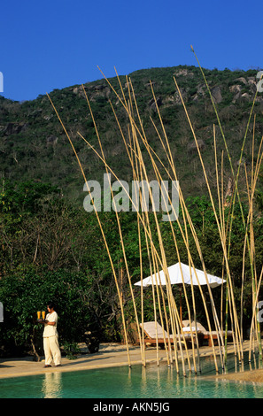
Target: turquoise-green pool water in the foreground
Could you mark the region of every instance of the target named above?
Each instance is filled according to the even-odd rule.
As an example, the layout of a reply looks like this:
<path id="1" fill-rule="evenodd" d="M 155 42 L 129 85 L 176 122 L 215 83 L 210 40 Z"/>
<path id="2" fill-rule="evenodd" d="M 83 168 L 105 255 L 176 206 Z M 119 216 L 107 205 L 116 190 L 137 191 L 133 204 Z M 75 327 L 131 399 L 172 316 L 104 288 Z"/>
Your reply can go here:
<path id="1" fill-rule="evenodd" d="M 255 359 L 244 367 L 228 358 L 228 373 L 259 368 Z M 214 374 L 211 358 L 201 360 L 201 375 L 178 375 L 175 366 L 115 367 L 0 379 L 1 398 L 261 398 L 263 383 L 207 381 Z"/>

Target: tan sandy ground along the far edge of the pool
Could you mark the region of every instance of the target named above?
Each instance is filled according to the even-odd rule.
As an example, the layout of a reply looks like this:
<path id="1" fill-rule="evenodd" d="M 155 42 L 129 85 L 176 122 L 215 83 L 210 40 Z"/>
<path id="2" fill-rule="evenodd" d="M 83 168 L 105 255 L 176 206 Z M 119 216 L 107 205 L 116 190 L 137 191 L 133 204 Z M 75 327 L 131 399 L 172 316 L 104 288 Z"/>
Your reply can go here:
<path id="1" fill-rule="evenodd" d="M 85 348 L 82 347 L 85 352 Z M 234 352 L 234 345 L 228 345 L 228 353 Z M 249 351 L 249 342 L 244 342 L 244 351 Z M 165 350 L 159 350 L 159 363 L 167 363 L 167 355 Z M 200 357 L 213 357 L 211 347 L 201 347 Z M 219 348 L 215 347 L 215 352 L 219 354 Z M 190 357 L 192 351 L 189 350 Z M 129 357 L 129 359 L 128 359 Z M 154 347 L 147 347 L 145 350 L 146 364 L 157 363 L 157 350 Z M 46 374 L 54 372 L 70 372 L 81 370 L 92 370 L 114 366 L 135 366 L 142 365 L 142 355 L 140 347 L 137 345 L 127 346 L 120 343 L 102 343 L 100 349 L 95 354 L 82 353 L 75 359 L 62 358 L 62 366 L 43 368 L 44 359 L 35 362 L 32 357 L 26 358 L 2 358 L 0 359 L 0 378 L 19 377 L 35 374 Z M 205 374 L 204 374 L 205 376 Z M 238 380 L 238 381 L 254 381 L 263 382 L 263 369 L 242 371 L 242 366 L 232 374 L 219 374 L 207 376 L 207 378 L 216 378 L 220 380 Z"/>

